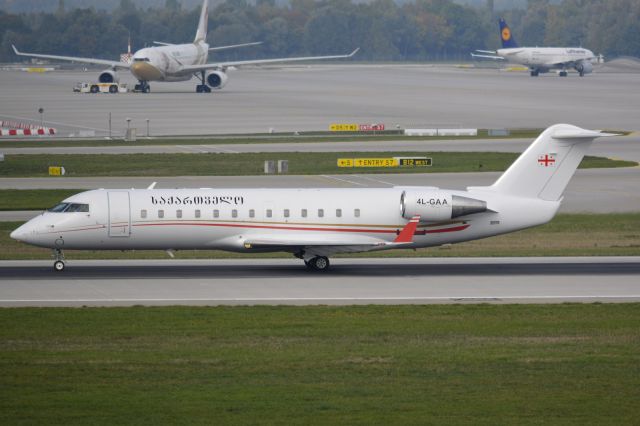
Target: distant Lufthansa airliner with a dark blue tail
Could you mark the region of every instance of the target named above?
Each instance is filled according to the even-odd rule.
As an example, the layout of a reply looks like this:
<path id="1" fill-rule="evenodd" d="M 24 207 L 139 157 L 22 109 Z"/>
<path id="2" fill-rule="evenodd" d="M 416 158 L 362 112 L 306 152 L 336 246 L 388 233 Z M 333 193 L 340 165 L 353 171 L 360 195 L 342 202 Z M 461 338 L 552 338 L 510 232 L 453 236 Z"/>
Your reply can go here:
<path id="1" fill-rule="evenodd" d="M 593 71 L 591 61 L 595 59 L 595 55 L 592 51 L 581 47 L 519 47 L 505 20 L 500 19 L 499 23 L 502 49 L 477 50 L 483 54 L 472 53 L 471 56 L 526 65 L 532 77 L 552 69 L 560 70 L 560 77 L 566 77 L 568 69 L 575 69 L 580 77 Z"/>

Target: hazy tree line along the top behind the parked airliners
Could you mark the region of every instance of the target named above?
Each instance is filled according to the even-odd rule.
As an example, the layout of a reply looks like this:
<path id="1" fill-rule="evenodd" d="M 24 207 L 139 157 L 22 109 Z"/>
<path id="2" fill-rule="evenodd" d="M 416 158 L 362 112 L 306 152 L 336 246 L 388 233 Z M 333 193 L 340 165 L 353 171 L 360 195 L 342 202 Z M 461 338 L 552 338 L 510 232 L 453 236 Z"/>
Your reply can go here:
<path id="1" fill-rule="evenodd" d="M 61 4 L 63 4 L 61 2 Z M 216 59 L 322 55 L 361 51 L 360 61 L 468 60 L 475 49 L 499 47 L 498 14 L 451 0 L 227 0 L 209 13 L 212 46 L 262 41 L 257 47 L 216 53 Z M 177 0 L 140 8 L 120 0 L 112 11 L 58 8 L 55 12 L 0 11 L 0 61 L 21 50 L 117 58 L 153 41 L 189 42 L 200 10 Z M 638 0 L 529 0 L 500 12 L 521 45 L 582 46 L 606 57 L 640 56 Z"/>

